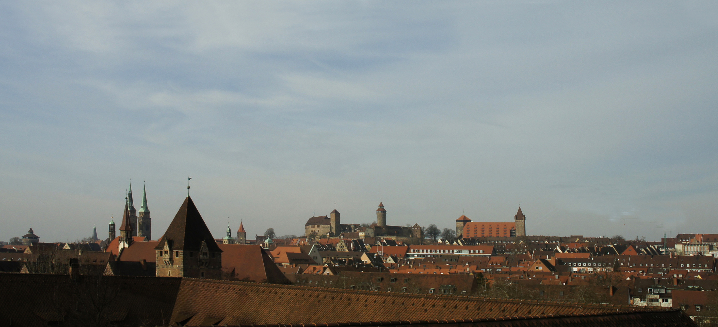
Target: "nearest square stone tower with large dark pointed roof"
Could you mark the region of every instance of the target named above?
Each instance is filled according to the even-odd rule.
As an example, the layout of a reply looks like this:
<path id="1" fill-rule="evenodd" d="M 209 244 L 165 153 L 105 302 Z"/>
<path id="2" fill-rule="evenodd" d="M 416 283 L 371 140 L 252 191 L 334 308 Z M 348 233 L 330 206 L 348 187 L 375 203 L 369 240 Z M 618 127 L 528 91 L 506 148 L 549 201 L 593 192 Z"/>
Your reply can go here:
<path id="1" fill-rule="evenodd" d="M 158 277 L 222 278 L 222 250 L 190 196 L 154 250 Z"/>

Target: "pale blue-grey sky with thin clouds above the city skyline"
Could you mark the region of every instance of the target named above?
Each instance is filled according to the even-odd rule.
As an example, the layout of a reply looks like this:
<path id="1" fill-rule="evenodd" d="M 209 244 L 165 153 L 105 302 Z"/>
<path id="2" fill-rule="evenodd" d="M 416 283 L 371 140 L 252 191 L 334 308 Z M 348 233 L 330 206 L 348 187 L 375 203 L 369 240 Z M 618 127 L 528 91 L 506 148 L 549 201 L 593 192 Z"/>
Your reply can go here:
<path id="1" fill-rule="evenodd" d="M 0 240 L 342 223 L 717 232 L 716 1 L 4 1 Z"/>

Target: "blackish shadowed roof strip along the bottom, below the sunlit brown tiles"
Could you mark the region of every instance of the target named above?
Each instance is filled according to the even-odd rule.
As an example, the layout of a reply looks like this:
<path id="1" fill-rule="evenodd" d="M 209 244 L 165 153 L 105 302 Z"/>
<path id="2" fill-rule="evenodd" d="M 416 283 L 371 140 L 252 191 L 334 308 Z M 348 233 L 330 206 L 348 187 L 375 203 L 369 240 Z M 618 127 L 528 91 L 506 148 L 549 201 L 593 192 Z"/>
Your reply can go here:
<path id="1" fill-rule="evenodd" d="M 227 327 L 258 327 L 260 325 L 233 325 Z M 300 323 L 261 325 L 261 327 L 339 327 L 339 326 L 396 326 L 396 327 L 668 327 L 696 326 L 680 310 L 671 311 L 620 311 L 615 313 L 579 313 L 564 316 L 528 316 L 486 319 L 457 319 L 443 321 L 371 321 L 364 323 Z"/>

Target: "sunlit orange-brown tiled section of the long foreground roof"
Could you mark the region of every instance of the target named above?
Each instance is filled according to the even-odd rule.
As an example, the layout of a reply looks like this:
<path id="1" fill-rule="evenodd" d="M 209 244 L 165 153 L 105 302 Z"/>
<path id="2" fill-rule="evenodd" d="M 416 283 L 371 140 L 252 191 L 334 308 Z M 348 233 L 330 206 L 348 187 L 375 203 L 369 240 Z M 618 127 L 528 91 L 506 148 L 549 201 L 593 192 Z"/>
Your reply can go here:
<path id="1" fill-rule="evenodd" d="M 398 285 L 397 285 L 398 287 Z M 212 303 L 212 305 L 206 305 Z M 443 321 L 632 311 L 628 306 L 404 295 L 184 278 L 172 321 L 197 325 Z"/>

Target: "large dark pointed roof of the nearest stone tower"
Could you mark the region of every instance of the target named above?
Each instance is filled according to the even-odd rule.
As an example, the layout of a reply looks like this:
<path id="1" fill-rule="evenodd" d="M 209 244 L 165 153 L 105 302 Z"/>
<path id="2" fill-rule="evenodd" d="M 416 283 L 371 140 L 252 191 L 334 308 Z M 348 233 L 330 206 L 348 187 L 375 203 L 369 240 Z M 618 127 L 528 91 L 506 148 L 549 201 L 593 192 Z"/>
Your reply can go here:
<path id="1" fill-rule="evenodd" d="M 199 251 L 204 241 L 208 250 L 222 252 L 190 196 L 187 196 L 180 210 L 174 215 L 155 250 L 164 249 L 167 240 L 172 240 L 172 250 Z"/>

